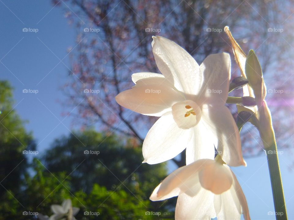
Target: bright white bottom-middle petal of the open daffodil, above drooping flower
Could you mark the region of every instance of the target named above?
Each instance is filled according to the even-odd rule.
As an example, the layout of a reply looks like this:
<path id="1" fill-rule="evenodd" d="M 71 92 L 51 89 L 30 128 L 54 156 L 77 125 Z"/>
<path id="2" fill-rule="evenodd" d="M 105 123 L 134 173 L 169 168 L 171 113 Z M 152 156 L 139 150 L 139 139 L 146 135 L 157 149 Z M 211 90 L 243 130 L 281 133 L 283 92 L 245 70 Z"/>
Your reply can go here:
<path id="1" fill-rule="evenodd" d="M 217 142 L 216 136 L 205 125 L 204 120 L 200 120 L 198 125 L 191 129 L 194 131 L 194 142 L 191 145 L 187 145 L 186 164 L 188 165 L 204 158 L 213 160 L 215 156 L 214 143 Z"/>

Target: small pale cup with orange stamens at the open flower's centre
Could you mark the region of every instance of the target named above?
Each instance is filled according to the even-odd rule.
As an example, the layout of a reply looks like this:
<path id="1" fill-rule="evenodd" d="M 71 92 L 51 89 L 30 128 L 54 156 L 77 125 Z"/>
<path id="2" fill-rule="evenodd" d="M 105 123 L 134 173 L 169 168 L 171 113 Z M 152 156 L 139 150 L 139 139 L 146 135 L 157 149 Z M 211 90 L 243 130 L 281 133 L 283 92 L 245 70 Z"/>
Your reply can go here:
<path id="1" fill-rule="evenodd" d="M 197 125 L 202 115 L 201 108 L 192 100 L 177 102 L 171 107 L 171 113 L 178 127 L 182 129 Z"/>

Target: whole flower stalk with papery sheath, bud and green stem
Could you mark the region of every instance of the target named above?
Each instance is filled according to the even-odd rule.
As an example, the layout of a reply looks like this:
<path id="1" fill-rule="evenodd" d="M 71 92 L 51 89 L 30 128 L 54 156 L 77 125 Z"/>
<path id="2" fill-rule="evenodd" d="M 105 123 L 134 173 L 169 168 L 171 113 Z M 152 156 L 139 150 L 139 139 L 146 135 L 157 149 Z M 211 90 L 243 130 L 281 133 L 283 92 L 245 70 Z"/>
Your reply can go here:
<path id="1" fill-rule="evenodd" d="M 250 50 L 246 56 L 233 38 L 229 28 L 225 27 L 224 30 L 232 43 L 232 49 L 236 63 L 239 65 L 241 76 L 248 80 L 248 85 L 243 87 L 243 94 L 254 97 L 257 104 L 254 108 L 250 109 L 239 106 L 238 112 L 242 109 L 242 111 L 251 112 L 253 114 L 252 116 L 254 116 L 249 122 L 257 127 L 264 149 L 266 150 L 276 219 L 287 219 L 281 172 L 277 156 L 277 144 L 271 114 L 265 101 L 266 86 L 263 81 L 262 68 L 254 51 Z"/>

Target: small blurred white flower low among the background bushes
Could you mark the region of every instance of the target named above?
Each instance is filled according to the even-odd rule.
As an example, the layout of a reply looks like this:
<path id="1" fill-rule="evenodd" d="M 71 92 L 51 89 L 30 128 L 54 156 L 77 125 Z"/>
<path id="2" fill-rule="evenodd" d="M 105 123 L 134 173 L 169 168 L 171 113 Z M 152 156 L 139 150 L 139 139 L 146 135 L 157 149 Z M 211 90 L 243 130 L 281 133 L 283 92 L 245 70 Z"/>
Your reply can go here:
<path id="1" fill-rule="evenodd" d="M 66 220 L 68 215 L 72 215 L 72 220 L 76 220 L 74 215 L 76 215 L 80 209 L 77 207 L 72 207 L 71 200 L 67 199 L 62 202 L 62 205 L 51 205 L 51 210 L 54 215 L 51 215 L 49 220 Z"/>

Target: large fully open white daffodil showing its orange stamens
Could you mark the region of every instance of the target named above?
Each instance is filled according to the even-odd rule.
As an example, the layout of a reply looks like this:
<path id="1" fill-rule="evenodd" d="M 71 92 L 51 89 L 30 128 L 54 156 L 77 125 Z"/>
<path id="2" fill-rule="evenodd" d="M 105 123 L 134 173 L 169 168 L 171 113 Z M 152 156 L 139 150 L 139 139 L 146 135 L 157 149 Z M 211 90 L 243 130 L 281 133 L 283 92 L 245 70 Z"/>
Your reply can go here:
<path id="1" fill-rule="evenodd" d="M 144 161 L 169 160 L 185 148 L 186 163 L 213 159 L 214 146 L 230 166 L 245 165 L 236 123 L 225 106 L 231 59 L 209 55 L 199 66 L 187 51 L 163 37 L 153 37 L 153 54 L 162 74 L 132 75 L 136 84 L 115 99 L 125 108 L 161 116 L 143 143 Z"/>

